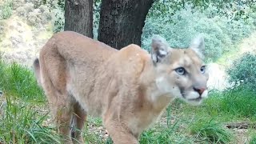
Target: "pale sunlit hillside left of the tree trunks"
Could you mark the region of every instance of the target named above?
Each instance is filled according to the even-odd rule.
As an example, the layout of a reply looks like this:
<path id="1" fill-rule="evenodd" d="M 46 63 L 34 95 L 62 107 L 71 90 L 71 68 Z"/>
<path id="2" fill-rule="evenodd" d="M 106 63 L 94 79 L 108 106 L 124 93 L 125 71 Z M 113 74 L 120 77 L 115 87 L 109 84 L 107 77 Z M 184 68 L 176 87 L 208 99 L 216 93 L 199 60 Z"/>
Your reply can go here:
<path id="1" fill-rule="evenodd" d="M 0 52 L 8 61 L 31 66 L 38 50 L 53 34 L 57 9 L 52 5 L 56 1 L 46 6 L 33 0 L 17 0 L 10 6 L 8 2 L 2 10 L 6 18 L 0 19 Z"/>

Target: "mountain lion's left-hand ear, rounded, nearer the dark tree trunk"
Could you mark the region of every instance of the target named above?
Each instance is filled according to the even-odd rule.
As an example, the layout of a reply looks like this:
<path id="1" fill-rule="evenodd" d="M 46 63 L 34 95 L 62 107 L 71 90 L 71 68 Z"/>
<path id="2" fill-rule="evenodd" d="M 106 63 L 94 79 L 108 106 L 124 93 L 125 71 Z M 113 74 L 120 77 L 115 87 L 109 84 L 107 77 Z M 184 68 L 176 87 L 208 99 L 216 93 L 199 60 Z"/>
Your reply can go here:
<path id="1" fill-rule="evenodd" d="M 153 36 L 151 46 L 151 58 L 154 63 L 161 62 L 170 49 L 166 39 L 158 34 Z"/>

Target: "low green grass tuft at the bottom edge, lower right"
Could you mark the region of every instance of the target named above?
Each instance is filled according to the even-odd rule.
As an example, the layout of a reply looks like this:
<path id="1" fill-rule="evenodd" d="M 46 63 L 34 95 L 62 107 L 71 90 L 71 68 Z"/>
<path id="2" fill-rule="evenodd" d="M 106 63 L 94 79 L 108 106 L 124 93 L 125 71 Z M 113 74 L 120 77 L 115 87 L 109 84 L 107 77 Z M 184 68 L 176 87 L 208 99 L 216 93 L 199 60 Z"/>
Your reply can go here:
<path id="1" fill-rule="evenodd" d="M 234 138 L 230 131 L 219 123 L 205 118 L 199 118 L 190 126 L 191 134 L 196 134 L 200 142 L 228 143 Z"/>

